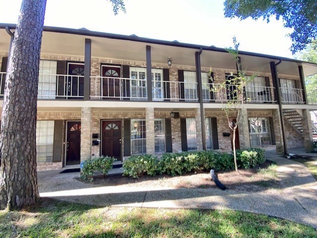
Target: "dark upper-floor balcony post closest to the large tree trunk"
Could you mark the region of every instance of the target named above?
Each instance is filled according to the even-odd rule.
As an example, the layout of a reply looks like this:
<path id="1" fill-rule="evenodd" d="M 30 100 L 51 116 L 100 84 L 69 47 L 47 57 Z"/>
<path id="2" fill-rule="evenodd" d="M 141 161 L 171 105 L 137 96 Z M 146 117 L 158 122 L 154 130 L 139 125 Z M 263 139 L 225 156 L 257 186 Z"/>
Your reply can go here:
<path id="1" fill-rule="evenodd" d="M 84 100 L 90 99 L 91 39 L 85 39 Z"/>

